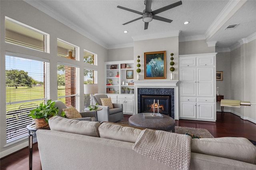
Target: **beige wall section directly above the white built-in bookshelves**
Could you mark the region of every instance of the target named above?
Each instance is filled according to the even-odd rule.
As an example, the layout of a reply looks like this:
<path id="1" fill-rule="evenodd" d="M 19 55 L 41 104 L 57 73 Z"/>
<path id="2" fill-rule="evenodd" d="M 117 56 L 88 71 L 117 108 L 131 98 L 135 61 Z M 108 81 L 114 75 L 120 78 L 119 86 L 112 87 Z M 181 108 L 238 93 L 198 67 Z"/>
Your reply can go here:
<path id="1" fill-rule="evenodd" d="M 124 61 L 133 59 L 133 47 L 108 50 L 108 61 Z"/>

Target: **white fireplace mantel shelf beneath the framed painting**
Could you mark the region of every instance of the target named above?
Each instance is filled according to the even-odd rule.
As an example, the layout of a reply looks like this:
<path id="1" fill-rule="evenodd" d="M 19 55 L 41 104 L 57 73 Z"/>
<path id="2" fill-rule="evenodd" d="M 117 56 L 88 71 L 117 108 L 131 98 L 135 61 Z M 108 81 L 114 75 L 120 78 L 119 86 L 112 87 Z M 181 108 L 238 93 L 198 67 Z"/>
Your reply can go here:
<path id="1" fill-rule="evenodd" d="M 148 86 L 148 87 L 176 87 L 179 80 L 140 80 L 134 81 L 134 86 Z"/>

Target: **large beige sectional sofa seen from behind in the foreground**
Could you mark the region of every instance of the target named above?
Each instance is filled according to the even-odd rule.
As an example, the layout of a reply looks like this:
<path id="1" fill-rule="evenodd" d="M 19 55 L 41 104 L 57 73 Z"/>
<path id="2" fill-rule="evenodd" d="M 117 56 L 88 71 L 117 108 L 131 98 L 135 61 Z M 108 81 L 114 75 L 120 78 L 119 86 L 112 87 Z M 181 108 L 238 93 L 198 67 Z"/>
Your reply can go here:
<path id="1" fill-rule="evenodd" d="M 36 131 L 43 170 L 175 169 L 133 150 L 145 131 L 141 128 L 58 116 L 49 119 L 49 125 L 51 130 Z M 245 138 L 189 141 L 191 170 L 256 169 L 256 147 Z"/>

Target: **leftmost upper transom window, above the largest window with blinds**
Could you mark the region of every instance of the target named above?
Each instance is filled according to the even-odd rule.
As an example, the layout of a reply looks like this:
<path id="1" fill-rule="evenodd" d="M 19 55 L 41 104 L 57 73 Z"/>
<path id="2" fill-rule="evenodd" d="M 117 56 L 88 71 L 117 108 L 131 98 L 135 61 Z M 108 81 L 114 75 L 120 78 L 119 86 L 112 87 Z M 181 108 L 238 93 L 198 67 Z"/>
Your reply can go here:
<path id="1" fill-rule="evenodd" d="M 5 19 L 5 42 L 49 53 L 49 34 L 12 20 Z"/>

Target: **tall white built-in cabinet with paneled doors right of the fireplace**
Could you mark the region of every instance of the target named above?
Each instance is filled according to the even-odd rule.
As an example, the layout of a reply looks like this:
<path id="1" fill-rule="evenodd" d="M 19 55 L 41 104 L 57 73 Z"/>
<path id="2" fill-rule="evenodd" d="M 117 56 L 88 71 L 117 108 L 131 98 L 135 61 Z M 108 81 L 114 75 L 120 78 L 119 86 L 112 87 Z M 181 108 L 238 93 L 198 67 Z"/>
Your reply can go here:
<path id="1" fill-rule="evenodd" d="M 181 119 L 216 121 L 216 53 L 179 55 Z"/>

